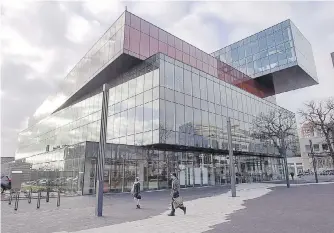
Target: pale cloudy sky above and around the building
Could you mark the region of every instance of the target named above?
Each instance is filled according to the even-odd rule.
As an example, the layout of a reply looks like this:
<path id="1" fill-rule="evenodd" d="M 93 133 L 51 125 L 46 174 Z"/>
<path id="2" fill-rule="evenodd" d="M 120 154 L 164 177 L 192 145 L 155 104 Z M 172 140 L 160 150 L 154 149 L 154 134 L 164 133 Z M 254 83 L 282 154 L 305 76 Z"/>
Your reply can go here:
<path id="1" fill-rule="evenodd" d="M 334 2 L 26 2 L 1 9 L 1 156 L 14 156 L 17 134 L 43 100 L 124 11 L 213 52 L 290 18 L 311 42 L 320 84 L 277 96 L 296 111 L 334 96 Z"/>

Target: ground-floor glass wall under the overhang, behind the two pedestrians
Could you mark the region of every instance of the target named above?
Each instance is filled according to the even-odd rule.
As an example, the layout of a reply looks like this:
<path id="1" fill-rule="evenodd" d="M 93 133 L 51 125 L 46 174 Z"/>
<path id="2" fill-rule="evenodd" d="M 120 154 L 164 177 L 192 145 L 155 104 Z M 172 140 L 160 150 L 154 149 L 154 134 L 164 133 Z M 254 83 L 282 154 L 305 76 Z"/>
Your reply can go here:
<path id="1" fill-rule="evenodd" d="M 94 193 L 98 143 L 88 142 L 85 161 L 84 194 Z M 93 166 L 91 166 L 93 164 Z M 236 156 L 238 183 L 280 180 L 279 158 Z M 174 152 L 133 145 L 107 144 L 104 171 L 105 192 L 129 192 L 135 177 L 142 190 L 171 188 L 170 173 L 178 174 L 181 187 L 214 186 L 230 183 L 229 160 L 224 154 Z"/>

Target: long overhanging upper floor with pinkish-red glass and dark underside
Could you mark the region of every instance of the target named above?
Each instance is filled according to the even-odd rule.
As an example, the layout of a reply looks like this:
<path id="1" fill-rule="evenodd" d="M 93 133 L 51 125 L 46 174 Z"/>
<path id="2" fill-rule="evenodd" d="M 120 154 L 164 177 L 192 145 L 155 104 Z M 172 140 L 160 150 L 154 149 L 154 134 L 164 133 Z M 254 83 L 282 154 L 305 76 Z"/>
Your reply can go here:
<path id="1" fill-rule="evenodd" d="M 29 125 L 34 125 L 50 113 L 69 106 L 94 91 L 99 91 L 103 83 L 159 52 L 258 97 L 274 95 L 272 88 L 125 11 L 69 72 L 58 92 L 45 100 L 30 119 Z"/>

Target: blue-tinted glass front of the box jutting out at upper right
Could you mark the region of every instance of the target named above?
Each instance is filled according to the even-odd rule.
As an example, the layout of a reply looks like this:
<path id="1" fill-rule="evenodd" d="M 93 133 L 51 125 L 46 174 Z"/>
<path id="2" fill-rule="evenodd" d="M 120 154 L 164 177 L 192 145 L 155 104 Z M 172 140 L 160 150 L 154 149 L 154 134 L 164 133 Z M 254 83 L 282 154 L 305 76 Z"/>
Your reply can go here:
<path id="1" fill-rule="evenodd" d="M 213 55 L 253 78 L 296 65 L 290 20 L 229 45 Z"/>

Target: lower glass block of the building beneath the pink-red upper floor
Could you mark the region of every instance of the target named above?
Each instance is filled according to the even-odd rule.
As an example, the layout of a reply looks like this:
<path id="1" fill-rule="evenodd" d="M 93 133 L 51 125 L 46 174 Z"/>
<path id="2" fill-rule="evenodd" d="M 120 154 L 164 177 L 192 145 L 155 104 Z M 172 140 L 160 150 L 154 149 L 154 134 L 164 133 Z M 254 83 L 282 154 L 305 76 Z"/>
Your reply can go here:
<path id="1" fill-rule="evenodd" d="M 277 105 L 162 53 L 109 85 L 105 192 L 129 191 L 135 176 L 144 190 L 168 188 L 170 172 L 182 187 L 227 184 L 227 117 L 238 182 L 283 177 L 273 144 L 251 136 L 257 115 Z M 17 159 L 32 165 L 25 185 L 94 193 L 101 99 L 90 96 L 20 134 Z"/>

